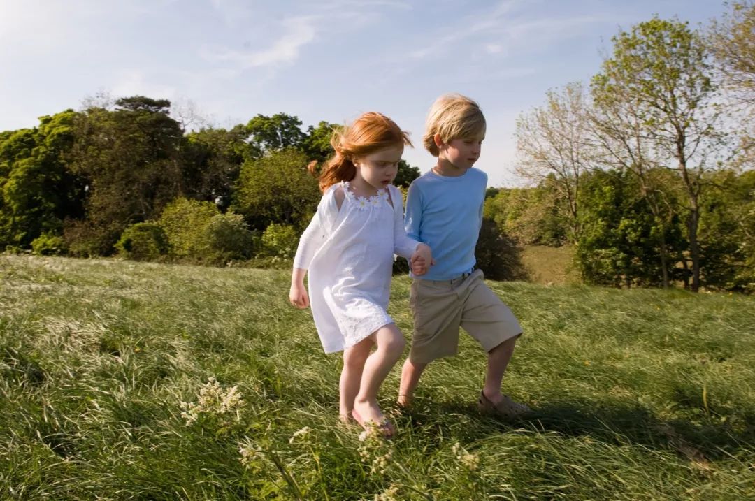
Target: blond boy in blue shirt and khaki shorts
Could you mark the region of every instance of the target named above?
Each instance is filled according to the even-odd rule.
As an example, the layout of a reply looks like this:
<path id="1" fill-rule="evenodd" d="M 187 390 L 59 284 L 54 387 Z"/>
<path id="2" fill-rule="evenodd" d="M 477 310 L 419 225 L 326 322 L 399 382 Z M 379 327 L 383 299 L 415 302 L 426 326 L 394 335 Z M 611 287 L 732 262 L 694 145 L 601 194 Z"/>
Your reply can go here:
<path id="1" fill-rule="evenodd" d="M 464 327 L 488 352 L 479 410 L 516 418 L 530 409 L 502 395 L 501 380 L 522 327 L 475 268 L 488 177 L 472 166 L 484 137 L 485 117 L 473 100 L 447 94 L 433 103 L 423 142 L 438 161 L 409 186 L 405 227 L 411 238 L 433 249 L 435 266 L 421 277 L 411 275 L 414 333 L 399 404 L 411 402 L 427 364 L 456 355 L 459 327 Z"/>

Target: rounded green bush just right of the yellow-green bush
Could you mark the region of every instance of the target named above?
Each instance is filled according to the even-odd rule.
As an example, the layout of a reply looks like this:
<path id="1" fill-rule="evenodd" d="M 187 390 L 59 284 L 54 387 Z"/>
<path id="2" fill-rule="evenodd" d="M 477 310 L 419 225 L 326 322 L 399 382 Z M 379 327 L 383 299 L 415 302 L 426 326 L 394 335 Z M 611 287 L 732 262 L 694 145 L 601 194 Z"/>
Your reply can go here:
<path id="1" fill-rule="evenodd" d="M 198 257 L 217 264 L 248 259 L 253 249 L 252 236 L 241 214 L 217 214 L 205 226 L 205 247 Z"/>

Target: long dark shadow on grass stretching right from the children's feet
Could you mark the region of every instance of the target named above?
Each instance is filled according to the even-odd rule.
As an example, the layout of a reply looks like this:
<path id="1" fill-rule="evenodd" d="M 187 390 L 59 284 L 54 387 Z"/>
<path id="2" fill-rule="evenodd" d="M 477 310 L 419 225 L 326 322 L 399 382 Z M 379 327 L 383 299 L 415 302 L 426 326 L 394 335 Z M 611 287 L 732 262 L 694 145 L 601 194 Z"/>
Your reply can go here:
<path id="1" fill-rule="evenodd" d="M 741 423 L 753 423 L 743 416 Z M 476 441 L 492 433 L 529 429 L 556 432 L 565 436 L 590 436 L 596 441 L 617 446 L 641 445 L 656 450 L 673 450 L 690 461 L 704 462 L 730 458 L 755 443 L 755 426 L 729 423 L 692 423 L 689 420 L 660 420 L 642 407 L 599 407 L 593 402 L 548 404 L 520 420 L 504 420 L 479 413 L 475 405 L 454 402 L 418 403 L 403 411 L 405 426 L 421 427 L 424 432 L 455 435 Z M 464 426 L 460 426 L 463 420 Z"/>

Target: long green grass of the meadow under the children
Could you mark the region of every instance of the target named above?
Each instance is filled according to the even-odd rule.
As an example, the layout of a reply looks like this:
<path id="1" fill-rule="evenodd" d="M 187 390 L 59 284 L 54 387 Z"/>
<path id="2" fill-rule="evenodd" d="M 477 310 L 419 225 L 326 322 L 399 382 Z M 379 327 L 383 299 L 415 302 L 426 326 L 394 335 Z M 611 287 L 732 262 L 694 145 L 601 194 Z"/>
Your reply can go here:
<path id="1" fill-rule="evenodd" d="M 384 443 L 338 424 L 341 359 L 288 280 L 0 256 L 0 498 L 755 497 L 755 298 L 491 283 L 525 327 L 504 389 L 535 416 L 476 413 L 485 357 L 464 336 Z M 407 336 L 408 286 L 390 309 Z M 205 395 L 187 425 L 211 377 L 242 402 Z"/>

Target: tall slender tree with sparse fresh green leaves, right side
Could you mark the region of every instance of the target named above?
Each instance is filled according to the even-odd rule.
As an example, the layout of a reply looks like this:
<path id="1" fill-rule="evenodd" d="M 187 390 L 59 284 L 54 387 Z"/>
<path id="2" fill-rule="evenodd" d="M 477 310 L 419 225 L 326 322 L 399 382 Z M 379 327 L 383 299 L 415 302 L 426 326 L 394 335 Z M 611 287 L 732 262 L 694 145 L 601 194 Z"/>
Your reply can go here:
<path id="1" fill-rule="evenodd" d="M 612 57 L 593 78 L 593 96 L 636 105 L 639 135 L 661 165 L 673 168 L 686 195 L 693 291 L 700 287 L 700 195 L 720 145 L 716 88 L 707 49 L 687 23 L 654 17 L 612 38 Z"/>

